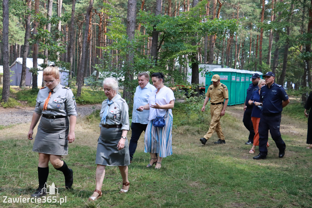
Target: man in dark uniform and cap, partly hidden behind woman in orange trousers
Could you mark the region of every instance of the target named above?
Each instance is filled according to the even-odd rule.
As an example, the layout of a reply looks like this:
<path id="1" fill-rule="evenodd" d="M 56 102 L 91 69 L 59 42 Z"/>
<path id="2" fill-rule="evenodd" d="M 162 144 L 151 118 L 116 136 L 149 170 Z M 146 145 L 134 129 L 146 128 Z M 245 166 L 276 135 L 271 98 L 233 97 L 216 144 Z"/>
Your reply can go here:
<path id="1" fill-rule="evenodd" d="M 255 90 L 259 90 L 258 82 L 260 80 L 260 75 L 258 73 L 254 73 L 251 76 L 251 84 L 247 89 L 247 96 L 244 103 L 244 117 L 243 123 L 246 129 L 249 131 L 248 141 L 245 143 L 246 145 L 250 145 L 253 143 L 253 138 L 255 137 L 255 131 L 253 129 L 252 121 L 251 121 L 251 111 L 253 105 L 249 105 L 248 101 Z"/>

